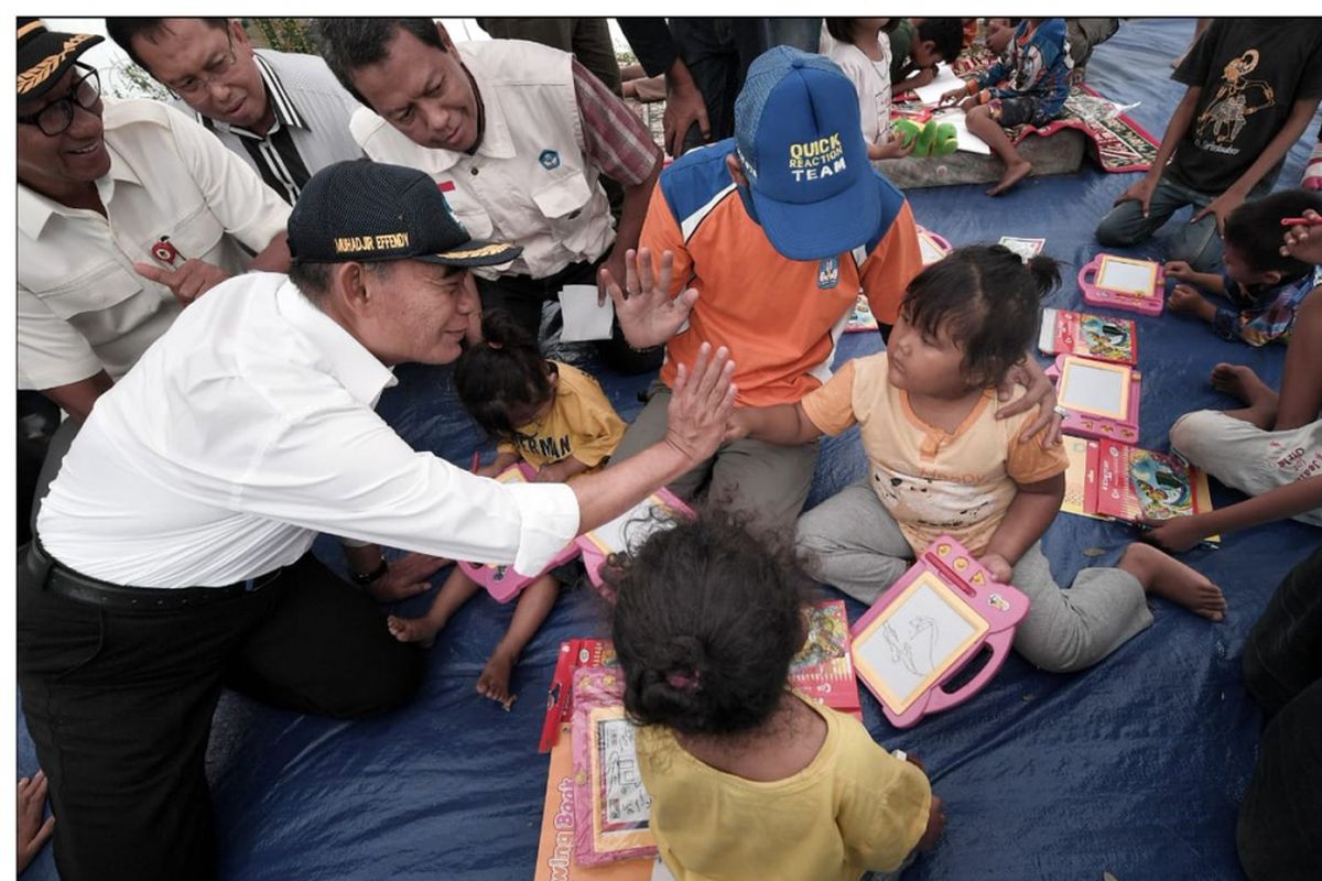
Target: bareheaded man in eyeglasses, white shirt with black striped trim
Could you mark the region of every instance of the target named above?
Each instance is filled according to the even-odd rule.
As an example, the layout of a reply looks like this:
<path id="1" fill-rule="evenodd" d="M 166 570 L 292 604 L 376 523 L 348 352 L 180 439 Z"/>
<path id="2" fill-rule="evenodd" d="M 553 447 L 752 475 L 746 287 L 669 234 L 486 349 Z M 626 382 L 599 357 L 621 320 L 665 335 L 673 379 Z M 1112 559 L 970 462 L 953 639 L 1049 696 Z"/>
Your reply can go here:
<path id="1" fill-rule="evenodd" d="M 361 104 L 317 55 L 254 49 L 237 18 L 114 17 L 106 30 L 291 205 L 312 174 L 362 156 L 349 132 Z"/>

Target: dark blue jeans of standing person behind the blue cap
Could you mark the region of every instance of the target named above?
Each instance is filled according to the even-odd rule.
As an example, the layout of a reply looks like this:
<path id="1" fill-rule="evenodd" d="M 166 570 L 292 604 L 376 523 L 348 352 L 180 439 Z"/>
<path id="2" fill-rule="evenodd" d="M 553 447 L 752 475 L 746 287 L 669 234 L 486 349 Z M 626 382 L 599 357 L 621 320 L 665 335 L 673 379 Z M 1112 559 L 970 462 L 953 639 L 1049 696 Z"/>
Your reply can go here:
<path id="1" fill-rule="evenodd" d="M 772 46 L 817 52 L 821 26 L 821 18 L 670 18 L 670 36 L 707 106 L 713 141 L 735 133 L 735 96 L 752 59 Z M 694 125 L 683 149 L 701 144 Z"/>

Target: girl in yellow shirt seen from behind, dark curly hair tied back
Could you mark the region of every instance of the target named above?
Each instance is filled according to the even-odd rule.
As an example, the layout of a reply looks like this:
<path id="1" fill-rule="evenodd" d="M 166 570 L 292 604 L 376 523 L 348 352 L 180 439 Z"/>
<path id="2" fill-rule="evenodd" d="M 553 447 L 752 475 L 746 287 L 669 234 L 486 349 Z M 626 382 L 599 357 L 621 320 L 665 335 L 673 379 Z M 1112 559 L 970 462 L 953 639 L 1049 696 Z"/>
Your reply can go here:
<path id="1" fill-rule="evenodd" d="M 608 580 L 649 826 L 678 881 L 858 881 L 935 845 L 921 769 L 787 688 L 812 586 L 788 549 L 705 511 Z"/>

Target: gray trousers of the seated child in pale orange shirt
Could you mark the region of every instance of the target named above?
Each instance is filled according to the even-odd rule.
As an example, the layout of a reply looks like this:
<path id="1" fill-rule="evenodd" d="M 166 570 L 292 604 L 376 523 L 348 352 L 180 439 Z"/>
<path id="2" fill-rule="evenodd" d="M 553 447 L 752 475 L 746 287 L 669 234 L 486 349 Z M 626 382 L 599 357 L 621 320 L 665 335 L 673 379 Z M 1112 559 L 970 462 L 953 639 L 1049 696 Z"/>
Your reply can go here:
<path id="1" fill-rule="evenodd" d="M 814 579 L 867 604 L 914 564 L 914 549 L 869 478 L 798 518 L 795 546 Z M 1040 543 L 1019 559 L 1010 581 L 1032 604 L 1014 647 L 1043 670 L 1091 667 L 1153 622 L 1138 579 L 1122 569 L 1089 568 L 1062 590 Z"/>

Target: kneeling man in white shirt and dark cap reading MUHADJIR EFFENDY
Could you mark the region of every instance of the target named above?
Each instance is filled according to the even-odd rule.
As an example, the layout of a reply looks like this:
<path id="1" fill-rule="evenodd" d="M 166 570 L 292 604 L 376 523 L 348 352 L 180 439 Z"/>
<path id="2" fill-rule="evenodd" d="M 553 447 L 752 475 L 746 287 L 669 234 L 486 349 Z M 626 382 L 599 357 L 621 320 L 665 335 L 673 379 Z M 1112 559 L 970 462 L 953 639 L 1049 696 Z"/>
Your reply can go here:
<path id="1" fill-rule="evenodd" d="M 290 218 L 291 275 L 190 306 L 97 404 L 19 577 L 19 680 L 78 878 L 214 873 L 204 775 L 222 684 L 350 717 L 406 701 L 422 655 L 309 552 L 319 531 L 538 572 L 576 532 L 711 456 L 726 353 L 682 371 L 662 442 L 572 485 L 414 452 L 373 411 L 403 362 L 460 353 L 472 240 L 422 172 L 340 162 Z M 709 363 L 710 361 L 710 363 Z"/>

